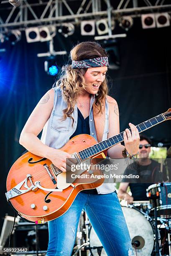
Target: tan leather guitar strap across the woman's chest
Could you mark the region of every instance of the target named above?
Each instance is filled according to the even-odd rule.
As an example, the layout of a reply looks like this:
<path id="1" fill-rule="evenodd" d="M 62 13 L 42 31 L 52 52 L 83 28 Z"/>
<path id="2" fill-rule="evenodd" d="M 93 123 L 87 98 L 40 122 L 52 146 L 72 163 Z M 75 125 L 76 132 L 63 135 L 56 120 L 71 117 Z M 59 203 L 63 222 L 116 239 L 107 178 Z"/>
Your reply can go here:
<path id="1" fill-rule="evenodd" d="M 102 101 L 102 113 L 99 111 L 95 102 L 93 103 L 93 117 L 96 128 L 97 141 L 102 141 L 105 128 L 105 98 Z"/>

